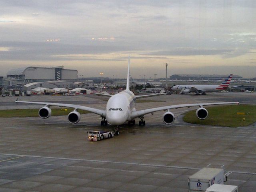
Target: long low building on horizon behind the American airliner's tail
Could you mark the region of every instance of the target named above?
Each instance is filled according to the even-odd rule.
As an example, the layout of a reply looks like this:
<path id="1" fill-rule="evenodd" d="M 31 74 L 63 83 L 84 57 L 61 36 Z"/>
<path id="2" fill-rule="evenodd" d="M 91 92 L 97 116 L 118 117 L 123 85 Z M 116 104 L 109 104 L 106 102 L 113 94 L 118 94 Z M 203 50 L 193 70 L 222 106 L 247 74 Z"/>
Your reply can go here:
<path id="1" fill-rule="evenodd" d="M 175 74 L 170 76 L 170 80 L 223 80 L 224 78 L 228 77 L 227 75 L 187 75 L 187 74 Z M 232 79 L 241 79 L 242 76 L 239 75 L 233 75 Z"/>

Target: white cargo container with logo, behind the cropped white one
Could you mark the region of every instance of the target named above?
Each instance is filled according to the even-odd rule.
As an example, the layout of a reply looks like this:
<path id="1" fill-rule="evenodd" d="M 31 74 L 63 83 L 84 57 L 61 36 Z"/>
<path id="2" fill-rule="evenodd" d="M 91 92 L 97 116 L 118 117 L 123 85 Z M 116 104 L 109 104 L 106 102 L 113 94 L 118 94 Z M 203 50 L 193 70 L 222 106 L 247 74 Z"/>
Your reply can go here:
<path id="1" fill-rule="evenodd" d="M 224 170 L 203 168 L 188 178 L 188 191 L 206 191 L 213 184 L 224 184 Z"/>

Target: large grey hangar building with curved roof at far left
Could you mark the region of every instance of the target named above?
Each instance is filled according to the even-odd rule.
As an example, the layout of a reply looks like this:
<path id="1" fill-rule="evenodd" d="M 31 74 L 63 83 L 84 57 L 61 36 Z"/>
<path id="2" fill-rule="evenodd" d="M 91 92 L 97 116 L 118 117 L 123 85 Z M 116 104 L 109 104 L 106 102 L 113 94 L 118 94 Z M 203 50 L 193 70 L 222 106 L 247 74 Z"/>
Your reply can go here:
<path id="1" fill-rule="evenodd" d="M 14 78 L 17 85 L 24 85 L 31 82 L 77 80 L 77 74 L 77 70 L 64 69 L 63 66 L 53 68 L 25 67 L 8 71 L 7 78 Z"/>

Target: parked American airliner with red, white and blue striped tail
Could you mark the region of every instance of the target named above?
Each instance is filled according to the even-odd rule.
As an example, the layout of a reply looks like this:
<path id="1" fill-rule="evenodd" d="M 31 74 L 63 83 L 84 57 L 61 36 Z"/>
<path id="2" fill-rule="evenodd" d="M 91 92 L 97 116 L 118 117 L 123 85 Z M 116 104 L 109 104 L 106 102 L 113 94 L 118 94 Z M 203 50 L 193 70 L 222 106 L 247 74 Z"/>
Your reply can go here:
<path id="1" fill-rule="evenodd" d="M 196 93 L 196 94 L 206 94 L 206 92 L 220 92 L 221 90 L 226 90 L 232 79 L 232 74 L 230 74 L 220 85 L 175 85 L 172 87 L 173 91 L 179 91 L 180 94 L 186 93 Z"/>

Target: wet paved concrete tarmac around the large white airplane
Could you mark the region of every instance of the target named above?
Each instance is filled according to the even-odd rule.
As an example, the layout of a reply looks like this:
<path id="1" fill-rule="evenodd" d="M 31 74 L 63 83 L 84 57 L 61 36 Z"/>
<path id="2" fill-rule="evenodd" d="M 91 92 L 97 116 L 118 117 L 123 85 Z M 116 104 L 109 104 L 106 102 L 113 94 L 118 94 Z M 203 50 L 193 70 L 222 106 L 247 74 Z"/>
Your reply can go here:
<path id="1" fill-rule="evenodd" d="M 254 93 L 173 94 L 148 98 L 164 102 L 138 103 L 136 108 L 237 100 L 256 104 L 255 96 Z M 66 100 L 105 108 L 106 102 L 100 98 L 32 96 L 20 100 Z M 0 104 L 14 100 L 15 97 L 1 98 Z M 1 105 L 1 109 L 20 106 L 28 107 L 14 103 Z M 89 142 L 86 132 L 112 127 L 99 126 L 101 118 L 95 114 L 82 115 L 75 125 L 69 124 L 66 116 L 0 118 L 0 191 L 187 192 L 190 175 L 208 164 L 216 168 L 225 164 L 225 170 L 231 172 L 225 184 L 238 185 L 240 192 L 254 192 L 255 124 L 239 128 L 187 124 L 182 122 L 181 115 L 186 110 L 172 110 L 176 120 L 170 126 L 163 124 L 163 112 L 156 112 L 145 116 L 146 126 L 123 125 L 120 136 L 98 142 Z"/>

